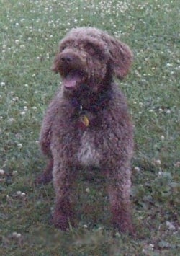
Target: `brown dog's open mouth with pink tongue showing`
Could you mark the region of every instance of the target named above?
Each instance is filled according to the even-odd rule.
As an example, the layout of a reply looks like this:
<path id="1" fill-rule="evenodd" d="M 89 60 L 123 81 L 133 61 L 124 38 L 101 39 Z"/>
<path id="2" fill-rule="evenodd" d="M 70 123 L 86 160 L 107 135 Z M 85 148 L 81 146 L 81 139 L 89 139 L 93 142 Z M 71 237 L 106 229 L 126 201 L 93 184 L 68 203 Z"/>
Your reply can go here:
<path id="1" fill-rule="evenodd" d="M 84 73 L 82 71 L 69 71 L 66 76 L 63 77 L 63 86 L 66 89 L 75 89 L 78 84 L 84 81 Z"/>

